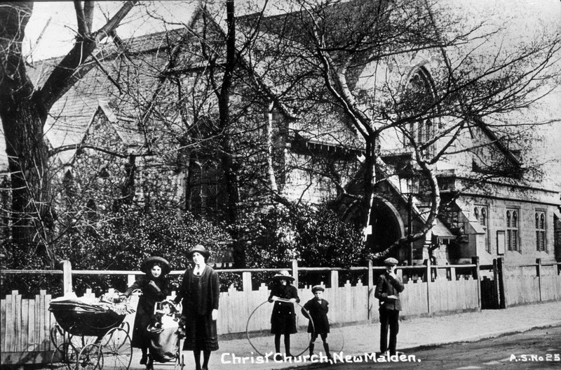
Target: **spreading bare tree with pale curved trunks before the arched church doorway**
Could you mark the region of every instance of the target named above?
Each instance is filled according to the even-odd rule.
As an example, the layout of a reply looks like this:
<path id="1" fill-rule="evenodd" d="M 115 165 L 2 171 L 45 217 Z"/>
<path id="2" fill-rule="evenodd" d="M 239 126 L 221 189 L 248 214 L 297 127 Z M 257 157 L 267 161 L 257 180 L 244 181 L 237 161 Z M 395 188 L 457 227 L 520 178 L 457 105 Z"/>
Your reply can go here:
<path id="1" fill-rule="evenodd" d="M 325 119 L 316 133 L 345 122 L 360 138 L 365 153 L 363 191 L 353 204 L 360 204 L 363 227 L 372 218 L 376 184 L 394 171 L 404 174 L 381 160 L 379 141 L 386 133 L 398 133 L 401 147 L 414 162 L 407 166 L 409 176 L 421 176 L 430 195 L 423 227 L 377 251 L 374 258 L 430 230 L 440 211 L 435 165 L 442 159 L 460 152 L 477 156 L 481 145 L 496 147 L 506 160 L 479 161 L 485 168 L 478 169 L 483 173 L 478 180 L 507 174 L 520 177 L 521 161 L 510 148 L 524 137 L 524 130 L 520 124 L 504 124 L 501 117 L 524 110 L 549 93 L 546 84 L 559 76 L 558 32 L 539 34 L 503 50 L 492 44 L 497 29 L 489 30 L 485 21 L 468 24 L 438 2 L 295 0 L 291 4 L 292 12 L 246 21 L 248 28 L 259 27 L 263 34 L 256 53 L 268 55 L 254 68 L 264 71 L 276 98 L 292 111 L 306 112 L 311 102 L 330 107 L 331 119 Z M 404 70 L 401 65 L 416 55 L 437 58 L 438 69 L 431 76 L 423 68 L 415 73 Z M 375 79 L 371 86 L 357 84 L 365 70 Z M 313 120 L 313 115 L 302 114 L 301 120 L 306 119 Z M 470 130 L 482 131 L 489 140 L 461 147 L 461 136 Z M 334 176 L 331 179 L 336 183 Z M 342 195 L 353 197 L 344 193 L 344 186 L 337 186 Z"/>

